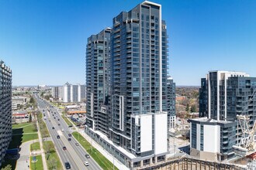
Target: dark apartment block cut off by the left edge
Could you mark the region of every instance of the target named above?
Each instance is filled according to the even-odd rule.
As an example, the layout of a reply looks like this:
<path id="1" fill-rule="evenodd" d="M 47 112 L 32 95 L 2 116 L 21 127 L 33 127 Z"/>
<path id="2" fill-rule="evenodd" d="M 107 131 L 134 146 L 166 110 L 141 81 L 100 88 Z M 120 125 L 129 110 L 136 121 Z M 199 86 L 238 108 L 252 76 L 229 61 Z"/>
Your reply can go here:
<path id="1" fill-rule="evenodd" d="M 12 139 L 12 70 L 0 60 L 0 166 Z"/>

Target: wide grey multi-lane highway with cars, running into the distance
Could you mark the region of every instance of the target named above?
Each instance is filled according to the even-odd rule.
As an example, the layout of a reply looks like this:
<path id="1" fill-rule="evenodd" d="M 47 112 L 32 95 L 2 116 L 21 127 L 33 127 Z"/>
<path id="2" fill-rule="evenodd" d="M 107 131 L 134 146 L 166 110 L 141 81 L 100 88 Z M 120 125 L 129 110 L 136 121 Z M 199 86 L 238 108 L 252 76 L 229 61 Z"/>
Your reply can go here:
<path id="1" fill-rule="evenodd" d="M 71 169 L 102 169 L 93 158 L 85 158 L 85 155 L 88 153 L 80 144 L 78 145 L 78 141 L 72 137 L 72 129 L 67 127 L 66 122 L 63 120 L 58 110 L 47 103 L 47 101 L 42 100 L 38 95 L 34 97 L 40 111 L 43 113 L 43 120 L 47 124 L 50 136 L 57 148 L 64 168 L 66 168 L 65 162 L 69 162 Z M 60 138 L 57 138 L 58 135 Z M 66 147 L 67 150 L 64 150 L 63 147 Z M 84 162 L 88 162 L 88 166 L 85 166 Z"/>

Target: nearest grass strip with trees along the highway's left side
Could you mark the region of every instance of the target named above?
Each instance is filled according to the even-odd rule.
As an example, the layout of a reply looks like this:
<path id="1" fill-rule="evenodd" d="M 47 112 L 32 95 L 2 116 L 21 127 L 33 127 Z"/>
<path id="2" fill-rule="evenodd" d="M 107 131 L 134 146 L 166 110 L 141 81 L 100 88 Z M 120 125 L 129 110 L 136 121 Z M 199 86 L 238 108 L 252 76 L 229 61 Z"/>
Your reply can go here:
<path id="1" fill-rule="evenodd" d="M 50 154 L 47 155 L 47 153 L 45 154 L 45 158 L 47 159 L 47 168 L 49 168 L 50 166 L 50 160 L 52 160 L 53 158 L 55 158 L 55 160 L 57 161 L 57 169 L 63 169 L 62 165 L 61 165 L 61 160 L 59 158 L 59 156 L 57 155 L 57 152 L 54 148 L 54 143 L 53 141 L 43 141 L 43 149 L 44 151 L 46 152 L 46 148 L 47 148 L 47 145 L 51 145 L 52 147 L 50 147 Z"/>

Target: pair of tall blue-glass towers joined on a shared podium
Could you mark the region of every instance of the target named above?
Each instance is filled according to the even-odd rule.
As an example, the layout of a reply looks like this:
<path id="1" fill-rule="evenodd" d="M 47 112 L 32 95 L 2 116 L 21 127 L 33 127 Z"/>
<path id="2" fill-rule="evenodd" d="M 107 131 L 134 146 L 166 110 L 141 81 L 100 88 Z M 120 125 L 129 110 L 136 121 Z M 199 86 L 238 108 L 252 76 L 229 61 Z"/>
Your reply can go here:
<path id="1" fill-rule="evenodd" d="M 112 19 L 110 88 L 102 78 L 108 67 L 100 64 L 109 46 L 99 35 L 89 37 L 87 44 L 85 132 L 130 168 L 164 160 L 168 41 L 161 5 L 145 1 Z"/>

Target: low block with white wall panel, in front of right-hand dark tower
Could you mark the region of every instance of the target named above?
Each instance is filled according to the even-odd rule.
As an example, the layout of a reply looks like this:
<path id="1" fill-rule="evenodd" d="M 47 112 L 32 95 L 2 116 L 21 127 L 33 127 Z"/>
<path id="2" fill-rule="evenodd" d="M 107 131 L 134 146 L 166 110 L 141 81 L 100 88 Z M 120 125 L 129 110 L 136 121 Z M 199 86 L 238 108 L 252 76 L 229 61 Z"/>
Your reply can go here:
<path id="1" fill-rule="evenodd" d="M 207 117 L 189 120 L 190 155 L 220 162 L 234 157 L 236 121 L 216 121 Z"/>

